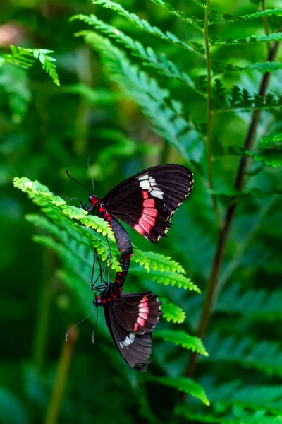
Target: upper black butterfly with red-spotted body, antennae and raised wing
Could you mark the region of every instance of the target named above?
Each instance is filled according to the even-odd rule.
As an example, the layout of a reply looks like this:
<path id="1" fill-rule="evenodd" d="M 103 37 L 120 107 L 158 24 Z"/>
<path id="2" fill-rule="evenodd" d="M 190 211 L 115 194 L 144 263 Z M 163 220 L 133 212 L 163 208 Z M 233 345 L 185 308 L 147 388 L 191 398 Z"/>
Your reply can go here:
<path id="1" fill-rule="evenodd" d="M 160 237 L 166 237 L 171 227 L 171 216 L 190 194 L 192 187 L 193 175 L 187 167 L 159 165 L 125 179 L 103 199 L 95 196 L 90 189 L 91 194 L 85 204 L 78 199 L 85 211 L 97 211 L 97 215 L 108 221 L 114 232 L 123 270 L 116 274 L 116 283 L 123 285 L 133 254 L 128 232 L 117 219 L 133 227 L 150 242 L 157 243 Z"/>

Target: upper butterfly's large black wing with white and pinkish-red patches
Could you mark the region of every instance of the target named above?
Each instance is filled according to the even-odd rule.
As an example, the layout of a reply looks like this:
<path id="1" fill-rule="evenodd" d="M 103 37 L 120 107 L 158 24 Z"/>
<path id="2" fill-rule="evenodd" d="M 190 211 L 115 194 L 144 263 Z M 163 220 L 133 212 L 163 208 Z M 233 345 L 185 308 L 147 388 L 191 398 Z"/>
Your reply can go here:
<path id="1" fill-rule="evenodd" d="M 111 190 L 102 202 L 150 242 L 166 237 L 170 218 L 193 187 L 193 175 L 182 165 L 159 165 L 133 175 Z"/>

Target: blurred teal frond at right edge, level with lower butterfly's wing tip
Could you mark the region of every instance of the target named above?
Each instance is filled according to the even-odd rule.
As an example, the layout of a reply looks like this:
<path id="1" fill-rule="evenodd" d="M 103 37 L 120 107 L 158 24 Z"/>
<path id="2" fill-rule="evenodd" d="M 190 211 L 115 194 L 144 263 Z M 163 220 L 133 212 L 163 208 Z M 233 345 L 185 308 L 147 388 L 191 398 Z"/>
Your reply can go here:
<path id="1" fill-rule="evenodd" d="M 222 338 L 219 333 L 204 339 L 212 361 L 237 363 L 246 368 L 260 370 L 267 375 L 282 376 L 282 346 L 272 341 L 253 341 L 249 337 Z"/>

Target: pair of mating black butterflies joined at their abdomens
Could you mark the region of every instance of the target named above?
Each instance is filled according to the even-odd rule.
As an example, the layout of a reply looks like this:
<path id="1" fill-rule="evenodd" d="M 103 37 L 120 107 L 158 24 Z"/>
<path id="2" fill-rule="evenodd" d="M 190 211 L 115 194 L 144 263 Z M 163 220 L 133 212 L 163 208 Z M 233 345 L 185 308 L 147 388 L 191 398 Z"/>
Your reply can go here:
<path id="1" fill-rule="evenodd" d="M 166 237 L 171 216 L 193 187 L 193 175 L 182 165 L 159 165 L 125 179 L 103 199 L 91 195 L 82 207 L 97 211 L 111 226 L 119 252 L 122 272 L 114 283 L 104 283 L 94 305 L 102 305 L 111 337 L 125 361 L 144 371 L 152 353 L 152 331 L 162 314 L 161 302 L 152 292 L 123 293 L 123 283 L 133 254 L 128 233 L 118 220 L 133 227 L 150 242 Z M 95 290 L 94 287 L 92 287 Z"/>

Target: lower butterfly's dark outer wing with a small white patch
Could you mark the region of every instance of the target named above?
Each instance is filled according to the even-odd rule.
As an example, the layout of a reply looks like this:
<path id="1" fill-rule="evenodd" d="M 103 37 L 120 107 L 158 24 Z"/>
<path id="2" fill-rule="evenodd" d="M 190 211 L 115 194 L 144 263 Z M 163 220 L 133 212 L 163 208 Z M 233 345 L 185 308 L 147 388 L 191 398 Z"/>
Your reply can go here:
<path id="1" fill-rule="evenodd" d="M 152 353 L 152 334 L 145 333 L 140 336 L 133 331 L 123 329 L 115 317 L 113 303 L 115 302 L 104 306 L 106 324 L 111 337 L 128 365 L 138 371 L 145 371 Z"/>

